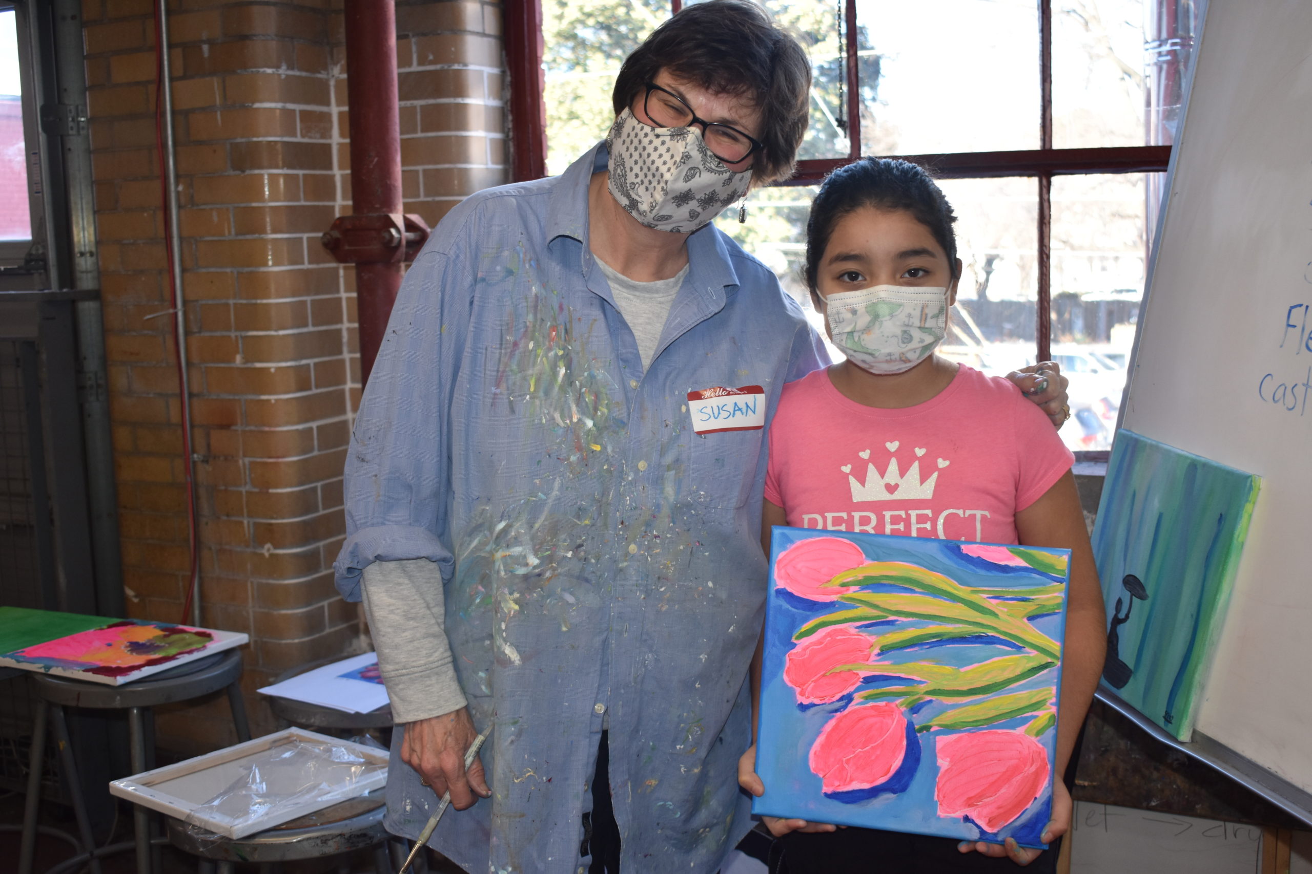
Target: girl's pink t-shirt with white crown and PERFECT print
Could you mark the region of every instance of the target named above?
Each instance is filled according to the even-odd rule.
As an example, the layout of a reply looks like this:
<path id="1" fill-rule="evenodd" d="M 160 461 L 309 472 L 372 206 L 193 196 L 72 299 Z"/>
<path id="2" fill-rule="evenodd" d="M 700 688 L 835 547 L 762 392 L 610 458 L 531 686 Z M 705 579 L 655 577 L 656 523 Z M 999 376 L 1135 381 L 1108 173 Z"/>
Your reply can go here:
<path id="1" fill-rule="evenodd" d="M 798 528 L 1014 544 L 1015 514 L 1073 460 L 1002 377 L 963 364 L 935 397 L 890 410 L 844 397 L 819 370 L 783 387 L 765 499 Z"/>

